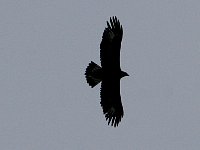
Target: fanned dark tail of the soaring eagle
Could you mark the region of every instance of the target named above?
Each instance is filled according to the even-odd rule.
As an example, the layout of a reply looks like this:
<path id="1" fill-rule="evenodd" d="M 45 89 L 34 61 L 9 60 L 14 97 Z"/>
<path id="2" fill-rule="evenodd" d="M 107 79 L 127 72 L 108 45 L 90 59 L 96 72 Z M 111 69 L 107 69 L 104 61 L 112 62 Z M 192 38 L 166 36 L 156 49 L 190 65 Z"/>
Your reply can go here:
<path id="1" fill-rule="evenodd" d="M 85 78 L 87 83 L 93 88 L 102 80 L 102 68 L 91 61 L 86 68 Z"/>

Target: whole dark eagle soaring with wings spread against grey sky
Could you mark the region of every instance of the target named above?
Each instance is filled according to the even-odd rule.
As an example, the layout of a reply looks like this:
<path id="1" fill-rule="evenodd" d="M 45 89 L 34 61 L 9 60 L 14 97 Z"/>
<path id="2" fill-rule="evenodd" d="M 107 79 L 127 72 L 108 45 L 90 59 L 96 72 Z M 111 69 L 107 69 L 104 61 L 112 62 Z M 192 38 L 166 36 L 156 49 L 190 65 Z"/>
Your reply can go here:
<path id="1" fill-rule="evenodd" d="M 120 67 L 120 49 L 123 28 L 116 16 L 107 21 L 100 44 L 101 66 L 93 61 L 85 71 L 86 81 L 92 88 L 101 82 L 101 107 L 108 125 L 117 127 L 124 110 L 120 95 L 120 79 L 129 76 Z"/>

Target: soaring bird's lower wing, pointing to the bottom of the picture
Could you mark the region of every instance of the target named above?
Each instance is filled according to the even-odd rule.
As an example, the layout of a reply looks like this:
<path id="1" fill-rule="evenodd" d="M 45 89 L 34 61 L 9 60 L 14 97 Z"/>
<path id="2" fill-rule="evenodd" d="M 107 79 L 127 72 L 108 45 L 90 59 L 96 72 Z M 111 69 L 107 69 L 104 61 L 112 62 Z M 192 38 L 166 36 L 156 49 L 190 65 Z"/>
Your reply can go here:
<path id="1" fill-rule="evenodd" d="M 101 106 L 105 114 L 108 125 L 118 126 L 124 115 L 121 96 L 120 96 L 120 80 L 108 79 L 103 80 L 101 84 Z"/>

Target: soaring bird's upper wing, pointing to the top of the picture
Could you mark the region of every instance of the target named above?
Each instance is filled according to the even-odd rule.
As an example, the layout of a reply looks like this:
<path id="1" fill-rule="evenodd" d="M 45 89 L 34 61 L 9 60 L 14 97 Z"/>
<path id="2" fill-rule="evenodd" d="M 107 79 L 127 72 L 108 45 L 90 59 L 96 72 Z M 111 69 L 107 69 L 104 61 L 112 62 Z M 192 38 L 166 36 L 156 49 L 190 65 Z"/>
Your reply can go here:
<path id="1" fill-rule="evenodd" d="M 123 29 L 117 17 L 107 21 L 100 44 L 101 66 L 106 72 L 120 69 L 120 48 L 123 36 Z"/>

